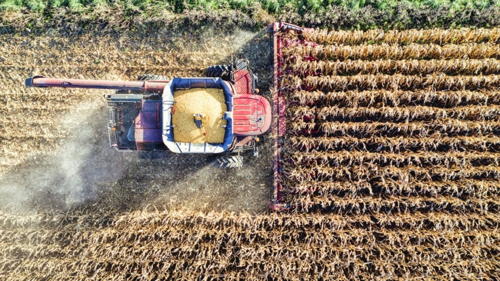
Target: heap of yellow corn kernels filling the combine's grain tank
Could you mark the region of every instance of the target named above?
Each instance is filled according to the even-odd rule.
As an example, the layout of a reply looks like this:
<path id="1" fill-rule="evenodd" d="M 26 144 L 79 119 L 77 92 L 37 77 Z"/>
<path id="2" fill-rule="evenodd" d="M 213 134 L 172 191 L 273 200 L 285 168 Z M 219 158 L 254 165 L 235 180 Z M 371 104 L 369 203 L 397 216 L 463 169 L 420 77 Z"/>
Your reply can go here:
<path id="1" fill-rule="evenodd" d="M 191 88 L 175 90 L 173 99 L 175 113 L 172 114 L 173 139 L 178 142 L 220 143 L 224 142 L 224 128 L 227 121 L 222 119 L 225 105 L 224 93 L 218 88 Z M 203 116 L 203 126 L 198 128 L 193 114 Z"/>

